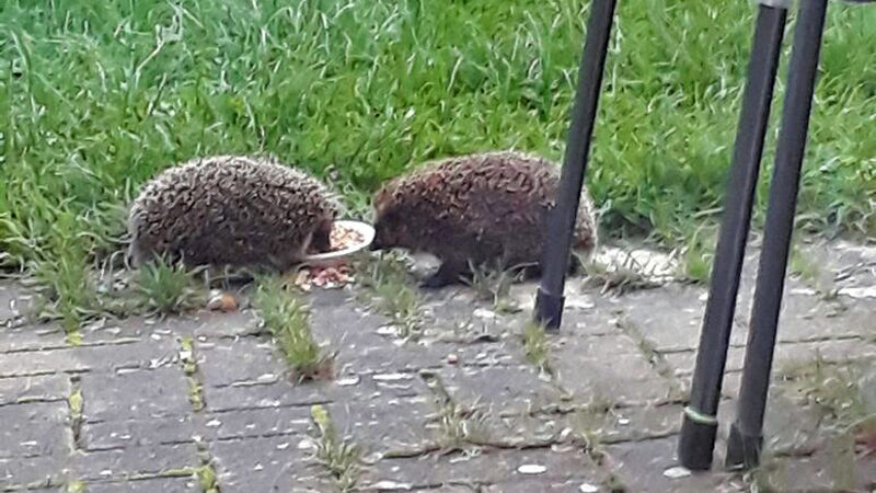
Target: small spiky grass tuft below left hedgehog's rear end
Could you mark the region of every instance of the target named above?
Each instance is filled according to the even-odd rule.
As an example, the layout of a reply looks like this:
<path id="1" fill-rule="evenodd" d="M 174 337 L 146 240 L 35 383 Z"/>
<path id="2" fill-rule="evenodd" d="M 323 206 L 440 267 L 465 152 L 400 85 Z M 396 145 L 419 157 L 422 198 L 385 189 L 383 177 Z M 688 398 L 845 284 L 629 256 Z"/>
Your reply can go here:
<path id="1" fill-rule="evenodd" d="M 136 285 L 140 303 L 162 314 L 203 307 L 204 290 L 195 279 L 199 272 L 189 271 L 182 264 L 170 264 L 163 259 L 143 264 L 137 274 Z"/>

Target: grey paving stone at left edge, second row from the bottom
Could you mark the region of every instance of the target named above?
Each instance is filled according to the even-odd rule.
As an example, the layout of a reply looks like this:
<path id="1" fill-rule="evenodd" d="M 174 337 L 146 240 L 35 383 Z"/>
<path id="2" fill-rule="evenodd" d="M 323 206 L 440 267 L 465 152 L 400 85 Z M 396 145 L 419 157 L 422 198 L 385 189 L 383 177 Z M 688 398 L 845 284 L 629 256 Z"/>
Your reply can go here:
<path id="1" fill-rule="evenodd" d="M 0 408 L 0 457 L 66 452 L 72 435 L 67 402 L 34 402 Z"/>

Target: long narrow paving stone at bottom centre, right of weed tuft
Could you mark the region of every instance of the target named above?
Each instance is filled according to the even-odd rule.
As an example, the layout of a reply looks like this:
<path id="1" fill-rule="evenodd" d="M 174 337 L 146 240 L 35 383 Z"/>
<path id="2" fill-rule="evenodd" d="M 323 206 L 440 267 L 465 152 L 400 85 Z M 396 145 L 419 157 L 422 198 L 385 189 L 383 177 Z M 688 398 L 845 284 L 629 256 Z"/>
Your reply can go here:
<path id="1" fill-rule="evenodd" d="M 562 481 L 581 475 L 601 479 L 603 475 L 586 454 L 573 447 L 557 451 L 482 449 L 470 456 L 429 454 L 416 458 L 384 459 L 366 469 L 360 483 L 367 491 L 373 491 L 373 486 L 381 481 L 406 483 L 414 489 L 518 482 L 530 479 L 519 472 L 525 465 L 544 467 L 544 472 L 538 475 L 541 481 Z"/>

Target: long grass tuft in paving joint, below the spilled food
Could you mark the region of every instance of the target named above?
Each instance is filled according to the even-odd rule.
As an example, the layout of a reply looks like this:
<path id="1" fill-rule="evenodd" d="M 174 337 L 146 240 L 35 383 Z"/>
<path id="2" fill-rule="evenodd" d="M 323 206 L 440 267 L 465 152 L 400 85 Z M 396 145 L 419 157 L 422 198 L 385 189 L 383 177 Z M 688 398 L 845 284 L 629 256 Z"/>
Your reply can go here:
<path id="1" fill-rule="evenodd" d="M 334 356 L 313 339 L 308 307 L 280 279 L 260 279 L 253 305 L 299 381 L 332 374 Z"/>

